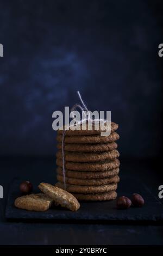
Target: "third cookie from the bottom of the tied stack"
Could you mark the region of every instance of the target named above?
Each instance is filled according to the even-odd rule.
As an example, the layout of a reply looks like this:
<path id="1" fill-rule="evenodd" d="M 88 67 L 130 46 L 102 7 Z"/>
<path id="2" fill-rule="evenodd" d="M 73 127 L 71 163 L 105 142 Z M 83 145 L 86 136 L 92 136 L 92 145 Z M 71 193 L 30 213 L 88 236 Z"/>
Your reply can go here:
<path id="1" fill-rule="evenodd" d="M 57 175 L 57 179 L 60 182 L 64 182 L 64 177 L 62 175 Z M 105 179 L 74 179 L 74 178 L 67 178 L 65 179 L 66 184 L 69 185 L 82 185 L 82 186 L 101 186 L 110 183 L 118 183 L 120 178 L 118 175 L 110 176 L 109 178 Z"/>

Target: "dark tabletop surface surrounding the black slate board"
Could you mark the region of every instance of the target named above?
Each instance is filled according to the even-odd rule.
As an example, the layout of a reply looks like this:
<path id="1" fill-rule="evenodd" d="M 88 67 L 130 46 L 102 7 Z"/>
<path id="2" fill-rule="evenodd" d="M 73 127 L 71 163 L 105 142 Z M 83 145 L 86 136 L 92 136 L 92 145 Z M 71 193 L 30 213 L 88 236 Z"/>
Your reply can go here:
<path id="1" fill-rule="evenodd" d="M 0 167 L 3 173 L 1 184 L 4 187 L 4 199 L 0 200 L 1 245 L 163 245 L 163 225 L 159 221 L 152 221 L 151 224 L 146 221 L 100 221 L 100 223 L 91 220 L 7 221 L 4 217 L 4 209 L 12 178 L 18 175 L 21 181 L 30 180 L 36 185 L 41 181 L 53 183 L 56 181 L 54 162 L 54 157 L 1 158 Z M 121 180 L 133 180 L 137 177 L 141 179 L 141 185 L 146 184 L 158 198 L 158 186 L 162 184 L 162 179 L 155 171 L 159 168 L 157 163 L 158 161 L 149 160 L 121 160 Z M 133 185 L 130 192 L 140 192 L 139 186 L 133 191 L 135 189 Z"/>

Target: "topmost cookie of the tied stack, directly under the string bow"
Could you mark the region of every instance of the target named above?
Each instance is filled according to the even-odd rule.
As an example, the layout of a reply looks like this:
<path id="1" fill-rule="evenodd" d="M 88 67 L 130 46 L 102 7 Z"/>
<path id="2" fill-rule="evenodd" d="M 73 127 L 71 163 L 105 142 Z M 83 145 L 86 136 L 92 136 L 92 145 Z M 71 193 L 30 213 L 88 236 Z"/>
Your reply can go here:
<path id="1" fill-rule="evenodd" d="M 92 125 L 92 130 L 88 130 L 88 126 L 86 123 L 84 125 L 84 130 L 82 130 L 82 125 L 80 124 L 80 130 L 66 130 L 65 136 L 89 136 L 89 135 L 98 135 L 101 134 L 101 132 L 104 132 L 102 129 L 95 130 L 95 125 Z M 76 126 L 77 127 L 77 126 Z M 68 128 L 68 126 L 66 126 Z M 116 131 L 118 129 L 118 124 L 111 122 L 111 131 Z M 64 130 L 64 127 L 62 127 L 62 130 L 58 130 L 58 135 L 62 135 Z"/>

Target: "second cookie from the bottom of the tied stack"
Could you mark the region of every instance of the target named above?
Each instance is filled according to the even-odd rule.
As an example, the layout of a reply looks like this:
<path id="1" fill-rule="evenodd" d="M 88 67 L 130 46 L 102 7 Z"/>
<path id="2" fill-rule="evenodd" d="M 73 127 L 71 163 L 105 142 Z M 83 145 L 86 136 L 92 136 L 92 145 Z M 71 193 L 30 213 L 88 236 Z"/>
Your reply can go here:
<path id="1" fill-rule="evenodd" d="M 64 189 L 64 184 L 62 182 L 57 182 L 55 186 L 61 187 Z M 66 190 L 72 193 L 86 193 L 86 194 L 103 193 L 103 192 L 108 192 L 116 189 L 117 189 L 116 183 L 111 183 L 108 185 L 101 185 L 101 186 L 79 186 L 79 185 L 66 184 Z"/>

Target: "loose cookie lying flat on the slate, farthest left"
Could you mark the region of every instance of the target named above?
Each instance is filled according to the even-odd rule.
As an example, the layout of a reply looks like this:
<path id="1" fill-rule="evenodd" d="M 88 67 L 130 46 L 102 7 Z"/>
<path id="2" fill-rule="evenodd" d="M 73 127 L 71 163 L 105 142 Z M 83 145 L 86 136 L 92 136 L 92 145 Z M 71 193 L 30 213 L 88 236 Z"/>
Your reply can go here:
<path id="1" fill-rule="evenodd" d="M 53 203 L 53 199 L 45 194 L 29 194 L 18 197 L 15 200 L 15 206 L 28 211 L 46 211 Z"/>

